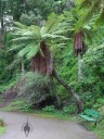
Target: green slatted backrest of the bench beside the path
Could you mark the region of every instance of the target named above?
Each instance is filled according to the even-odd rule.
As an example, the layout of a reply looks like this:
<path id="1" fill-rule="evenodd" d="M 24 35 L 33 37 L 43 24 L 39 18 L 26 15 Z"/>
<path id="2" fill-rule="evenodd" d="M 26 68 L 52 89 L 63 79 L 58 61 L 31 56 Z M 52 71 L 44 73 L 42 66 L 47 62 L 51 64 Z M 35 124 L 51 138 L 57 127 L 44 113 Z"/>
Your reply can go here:
<path id="1" fill-rule="evenodd" d="M 98 117 L 100 116 L 100 113 L 96 112 L 95 110 L 87 109 L 87 110 L 84 110 L 83 113 L 84 113 L 86 115 L 91 116 L 91 117 L 94 117 L 94 118 L 98 118 Z"/>

